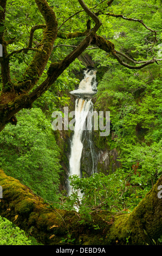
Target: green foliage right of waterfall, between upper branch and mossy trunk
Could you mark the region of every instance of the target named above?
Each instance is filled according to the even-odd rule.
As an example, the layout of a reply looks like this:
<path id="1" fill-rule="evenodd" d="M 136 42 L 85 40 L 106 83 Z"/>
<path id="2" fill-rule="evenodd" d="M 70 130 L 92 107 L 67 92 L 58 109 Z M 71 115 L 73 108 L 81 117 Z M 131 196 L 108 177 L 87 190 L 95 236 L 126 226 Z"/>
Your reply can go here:
<path id="1" fill-rule="evenodd" d="M 134 72 L 116 66 L 105 72 L 98 85 L 95 107 L 110 111 L 116 138 L 109 139 L 108 147 L 118 148 L 122 165 L 109 175 L 124 182 L 117 203 L 121 208 L 132 210 L 162 173 L 160 70 L 152 66 Z"/>

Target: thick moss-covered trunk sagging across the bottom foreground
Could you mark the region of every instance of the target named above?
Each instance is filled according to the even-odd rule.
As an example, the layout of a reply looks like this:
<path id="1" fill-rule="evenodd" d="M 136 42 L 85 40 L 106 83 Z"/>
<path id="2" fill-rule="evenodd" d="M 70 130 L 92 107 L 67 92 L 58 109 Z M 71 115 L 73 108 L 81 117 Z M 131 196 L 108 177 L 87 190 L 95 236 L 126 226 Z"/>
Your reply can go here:
<path id="1" fill-rule="evenodd" d="M 1 216 L 36 237 L 44 245 L 61 245 L 61 237 L 70 237 L 73 245 L 130 245 L 150 244 L 161 235 L 162 198 L 158 187 L 162 176 L 146 194 L 131 214 L 114 215 L 99 211 L 92 215 L 92 222 L 80 224 L 81 217 L 75 211 L 53 209 L 20 181 L 0 170 L 3 198 Z M 95 229 L 98 225 L 99 229 Z"/>

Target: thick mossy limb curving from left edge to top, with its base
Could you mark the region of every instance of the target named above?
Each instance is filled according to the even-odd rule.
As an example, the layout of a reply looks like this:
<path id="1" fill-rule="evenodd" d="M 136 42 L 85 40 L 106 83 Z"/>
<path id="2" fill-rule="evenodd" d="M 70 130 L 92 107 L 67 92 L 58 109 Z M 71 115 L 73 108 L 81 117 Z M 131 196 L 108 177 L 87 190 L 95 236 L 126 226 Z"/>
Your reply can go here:
<path id="1" fill-rule="evenodd" d="M 0 3 L 1 2 L 4 1 L 0 0 Z M 4 57 L 1 58 L 1 71 L 3 72 L 2 76 L 4 76 L 3 89 L 5 88 L 6 84 L 8 86 L 8 90 L 6 92 L 5 90 L 3 90 L 0 95 L 0 131 L 3 130 L 5 124 L 7 124 L 11 117 L 15 115 L 18 111 L 20 111 L 22 108 L 31 107 L 28 93 L 31 89 L 33 89 L 33 87 L 43 74 L 51 52 L 53 51 L 54 41 L 57 38 L 57 20 L 53 9 L 49 7 L 46 0 L 35 0 L 35 3 L 46 22 L 46 28 L 44 29 L 42 40 L 40 42 L 41 50 L 35 50 L 36 53 L 33 57 L 33 60 L 22 75 L 21 81 L 19 81 L 17 84 L 11 84 L 11 86 L 9 86 L 10 72 L 7 73 L 8 77 L 5 72 L 6 69 L 8 69 L 9 71 L 9 58 L 7 58 L 8 53 L 5 46 L 6 43 L 4 42 L 3 33 L 0 34 L 0 40 L 2 39 L 4 42 Z"/>

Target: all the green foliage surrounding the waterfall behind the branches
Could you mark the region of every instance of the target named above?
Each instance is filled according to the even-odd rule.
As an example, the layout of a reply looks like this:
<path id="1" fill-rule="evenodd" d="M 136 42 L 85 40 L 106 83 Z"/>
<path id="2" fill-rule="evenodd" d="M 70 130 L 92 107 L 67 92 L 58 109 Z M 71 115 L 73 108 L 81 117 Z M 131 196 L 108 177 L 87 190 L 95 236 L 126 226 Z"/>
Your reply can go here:
<path id="1" fill-rule="evenodd" d="M 34 0 L 8 0 L 7 3 L 6 20 L 0 32 L 4 32 L 5 40 L 14 39 L 8 45 L 8 52 L 11 53 L 27 47 L 31 27 L 44 23 L 44 20 L 40 13 L 38 15 Z M 82 38 L 67 40 L 66 33 L 84 32 L 88 19 L 76 0 L 49 0 L 48 3 L 56 13 L 59 33 L 63 38 L 56 39 L 49 62 L 36 86 L 46 79 L 51 63 L 61 62 L 72 52 L 72 47 L 66 45 L 79 45 Z M 137 61 L 158 56 L 162 43 L 161 1 L 114 1 L 106 9 L 107 1 L 87 0 L 86 4 L 94 13 L 102 11 L 99 16 L 102 26 L 98 34 L 111 40 L 116 50 Z M 148 27 L 157 31 L 157 43 L 154 45 L 153 33 L 141 23 L 108 17 L 108 12 L 142 19 Z M 93 21 L 91 25 L 93 27 Z M 38 29 L 34 33 L 33 47 L 41 38 L 42 29 Z M 73 193 L 67 197 L 66 192 L 62 191 L 58 202 L 60 150 L 48 118 L 54 110 L 69 106 L 68 93 L 79 82 L 76 74 L 83 68 L 78 59 L 34 102 L 33 109 L 25 109 L 17 114 L 16 126 L 7 125 L 1 132 L 0 167 L 44 199 L 55 201 L 52 207 L 67 210 L 77 208 L 81 216 L 80 223 L 91 223 L 93 211 L 131 212 L 161 175 L 161 66 L 153 64 L 139 71 L 129 70 L 122 68 L 116 59 L 99 48 L 85 52 L 92 57 L 98 69 L 95 109 L 110 111 L 111 134 L 116 135 L 115 141 L 102 138 L 95 144 L 98 148 L 118 148 L 121 168 L 108 176 L 101 173 L 81 179 L 73 176 Z M 33 51 L 28 54 L 21 52 L 10 58 L 13 82 L 21 80 L 34 54 Z M 124 61 L 130 64 L 128 60 Z M 79 191 L 82 199 L 78 196 Z M 32 244 L 23 231 L 7 220 L 0 218 L 0 228 L 0 244 Z M 100 227 L 94 225 L 93 228 Z M 74 240 L 69 234 L 62 242 L 73 243 Z M 129 234 L 126 243 L 129 243 Z"/>

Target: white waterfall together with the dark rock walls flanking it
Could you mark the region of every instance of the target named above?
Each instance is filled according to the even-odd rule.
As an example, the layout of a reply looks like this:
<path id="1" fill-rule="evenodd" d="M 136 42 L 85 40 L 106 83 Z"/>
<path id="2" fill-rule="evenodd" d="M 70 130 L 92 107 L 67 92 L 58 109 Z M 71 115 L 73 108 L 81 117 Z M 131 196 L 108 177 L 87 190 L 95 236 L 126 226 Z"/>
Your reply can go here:
<path id="1" fill-rule="evenodd" d="M 60 190 L 66 190 L 68 195 L 71 193 L 69 176 L 89 177 L 99 172 L 108 175 L 120 167 L 118 151 L 107 146 L 107 141 L 109 144 L 113 141 L 113 133 L 106 138 L 100 137 L 99 131 L 94 130 L 97 85 L 96 70 L 93 67 L 84 70 L 79 86 L 69 93 L 73 102 L 69 109 L 75 115 L 72 127 L 69 123 L 68 132 L 57 131 L 58 143 L 64 142 L 61 159 L 64 172 L 61 173 Z"/>

